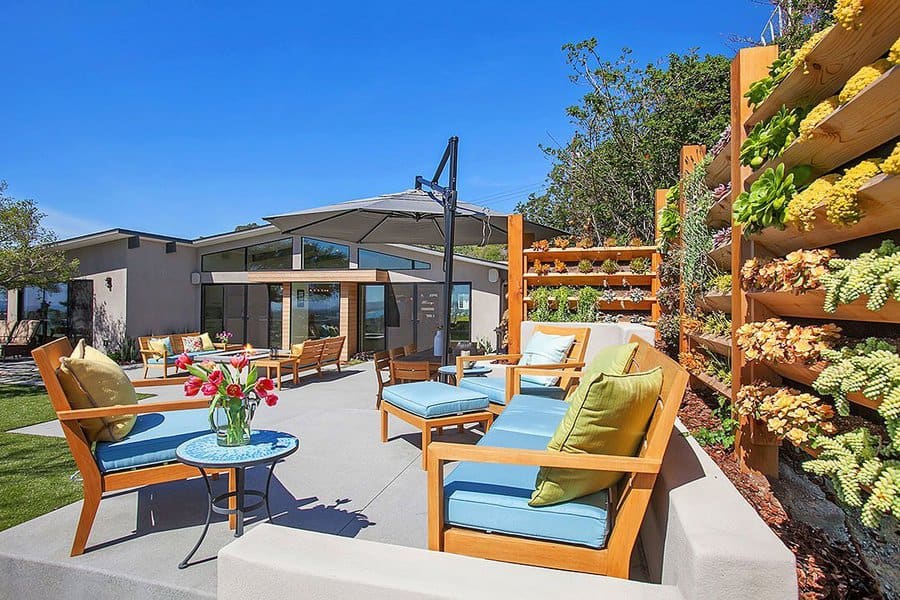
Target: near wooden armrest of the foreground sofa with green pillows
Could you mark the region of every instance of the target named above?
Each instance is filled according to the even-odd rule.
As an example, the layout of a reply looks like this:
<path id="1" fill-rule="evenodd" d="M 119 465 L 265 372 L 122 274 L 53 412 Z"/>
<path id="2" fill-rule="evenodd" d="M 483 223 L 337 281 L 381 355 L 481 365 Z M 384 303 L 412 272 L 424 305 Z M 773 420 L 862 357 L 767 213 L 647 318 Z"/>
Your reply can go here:
<path id="1" fill-rule="evenodd" d="M 520 450 L 493 446 L 472 446 L 450 442 L 428 444 L 429 469 L 431 463 L 450 460 L 492 463 L 503 465 L 528 465 L 557 467 L 585 471 L 624 471 L 627 473 L 659 473 L 662 461 L 656 458 L 614 456 L 611 454 L 570 454 L 552 450 Z"/>

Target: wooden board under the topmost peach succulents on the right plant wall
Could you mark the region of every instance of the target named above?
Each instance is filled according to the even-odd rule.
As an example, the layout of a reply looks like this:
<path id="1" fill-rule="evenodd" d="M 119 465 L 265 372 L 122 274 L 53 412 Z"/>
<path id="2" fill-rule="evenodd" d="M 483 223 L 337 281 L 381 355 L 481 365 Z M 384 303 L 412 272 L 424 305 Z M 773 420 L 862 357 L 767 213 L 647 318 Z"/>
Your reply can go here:
<path id="1" fill-rule="evenodd" d="M 877 311 L 866 308 L 866 298 L 851 304 L 839 304 L 833 313 L 825 312 L 825 292 L 814 290 L 804 294 L 792 292 L 748 292 L 747 296 L 765 305 L 776 315 L 800 319 L 833 319 L 838 321 L 867 321 L 871 323 L 900 323 L 900 302 L 889 299 Z"/>

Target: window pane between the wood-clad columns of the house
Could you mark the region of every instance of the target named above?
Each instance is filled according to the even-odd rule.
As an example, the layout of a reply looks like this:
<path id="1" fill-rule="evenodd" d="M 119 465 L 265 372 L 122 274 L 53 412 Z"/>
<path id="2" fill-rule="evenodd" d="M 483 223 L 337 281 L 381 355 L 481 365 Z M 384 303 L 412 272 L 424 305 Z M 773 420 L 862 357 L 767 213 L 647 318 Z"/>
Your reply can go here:
<path id="1" fill-rule="evenodd" d="M 291 344 L 340 335 L 339 283 L 291 284 Z"/>

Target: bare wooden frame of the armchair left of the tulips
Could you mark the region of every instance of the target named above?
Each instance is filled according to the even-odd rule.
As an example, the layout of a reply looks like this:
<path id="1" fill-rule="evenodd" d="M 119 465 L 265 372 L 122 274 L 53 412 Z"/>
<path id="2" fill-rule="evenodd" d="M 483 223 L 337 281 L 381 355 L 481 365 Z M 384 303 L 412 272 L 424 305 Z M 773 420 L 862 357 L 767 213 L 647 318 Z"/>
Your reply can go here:
<path id="1" fill-rule="evenodd" d="M 39 348 L 35 348 L 31 355 L 47 387 L 47 394 L 56 416 L 62 426 L 72 457 L 81 472 L 82 485 L 84 487 L 84 504 L 81 506 L 81 516 L 75 531 L 75 540 L 72 542 L 72 556 L 84 553 L 94 517 L 100 506 L 100 500 L 105 492 L 124 490 L 152 483 L 166 481 L 178 481 L 199 477 L 200 471 L 195 467 L 189 467 L 181 463 L 173 462 L 148 467 L 139 467 L 128 471 L 115 471 L 101 473 L 97 461 L 91 450 L 91 442 L 84 435 L 79 421 L 97 417 L 109 417 L 114 415 L 131 415 L 160 413 L 166 411 L 185 410 L 191 408 L 208 408 L 208 399 L 184 399 L 173 402 L 149 402 L 128 406 L 107 406 L 103 408 L 73 409 L 63 391 L 62 385 L 56 375 L 59 359 L 72 353 L 72 345 L 66 338 L 60 338 Z M 136 380 L 135 387 L 148 387 L 158 385 L 174 385 L 184 383 L 185 378 L 170 378 L 166 381 Z M 213 473 L 227 473 L 228 470 L 212 471 Z M 234 478 L 229 477 L 229 491 L 233 490 Z"/>

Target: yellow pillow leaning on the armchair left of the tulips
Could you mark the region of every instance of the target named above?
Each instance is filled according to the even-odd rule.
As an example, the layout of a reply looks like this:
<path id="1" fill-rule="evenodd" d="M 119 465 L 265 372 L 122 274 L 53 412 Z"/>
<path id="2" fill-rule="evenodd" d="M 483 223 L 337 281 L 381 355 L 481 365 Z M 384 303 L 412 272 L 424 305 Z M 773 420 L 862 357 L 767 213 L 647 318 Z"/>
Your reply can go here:
<path id="1" fill-rule="evenodd" d="M 99 408 L 137 404 L 137 393 L 128 375 L 111 358 L 79 340 L 72 354 L 59 360 L 59 382 L 72 408 Z M 80 421 L 90 442 L 115 442 L 134 427 L 134 415 L 100 417 Z"/>

